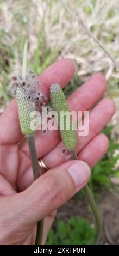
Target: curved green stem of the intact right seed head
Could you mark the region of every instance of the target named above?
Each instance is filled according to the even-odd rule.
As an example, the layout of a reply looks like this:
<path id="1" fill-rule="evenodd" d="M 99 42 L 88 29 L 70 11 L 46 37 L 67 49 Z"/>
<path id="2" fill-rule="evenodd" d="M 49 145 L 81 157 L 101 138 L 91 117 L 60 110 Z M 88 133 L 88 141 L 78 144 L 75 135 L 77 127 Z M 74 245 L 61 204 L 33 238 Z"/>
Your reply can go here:
<path id="1" fill-rule="evenodd" d="M 78 160 L 76 151 L 74 149 L 70 150 L 70 153 L 71 153 L 72 159 L 77 159 Z M 94 245 L 98 245 L 99 241 L 101 239 L 101 235 L 102 235 L 102 218 L 101 218 L 101 216 L 99 214 L 97 205 L 96 205 L 95 200 L 94 200 L 94 198 L 92 196 L 90 188 L 89 188 L 89 186 L 87 184 L 84 187 L 84 191 L 85 191 L 86 197 L 87 197 L 87 199 L 88 199 L 88 201 L 89 201 L 89 203 L 91 205 L 93 214 L 95 216 L 97 232 L 96 232 L 96 237 L 95 237 Z"/>

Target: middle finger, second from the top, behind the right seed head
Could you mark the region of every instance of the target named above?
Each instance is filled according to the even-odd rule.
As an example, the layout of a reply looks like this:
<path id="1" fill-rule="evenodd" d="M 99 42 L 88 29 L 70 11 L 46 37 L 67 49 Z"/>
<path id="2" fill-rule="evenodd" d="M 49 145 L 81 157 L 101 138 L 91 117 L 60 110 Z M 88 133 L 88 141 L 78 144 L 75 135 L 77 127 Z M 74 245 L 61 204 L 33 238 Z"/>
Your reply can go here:
<path id="1" fill-rule="evenodd" d="M 101 74 L 95 74 L 87 80 L 82 87 L 74 92 L 68 99 L 70 110 L 86 111 L 101 99 L 107 88 L 105 78 Z M 35 135 L 35 144 L 37 156 L 41 157 L 51 151 L 60 141 L 58 131 L 49 131 L 45 133 L 38 131 Z M 42 147 L 40 147 L 42 145 Z M 29 155 L 28 143 L 24 141 L 21 150 Z"/>

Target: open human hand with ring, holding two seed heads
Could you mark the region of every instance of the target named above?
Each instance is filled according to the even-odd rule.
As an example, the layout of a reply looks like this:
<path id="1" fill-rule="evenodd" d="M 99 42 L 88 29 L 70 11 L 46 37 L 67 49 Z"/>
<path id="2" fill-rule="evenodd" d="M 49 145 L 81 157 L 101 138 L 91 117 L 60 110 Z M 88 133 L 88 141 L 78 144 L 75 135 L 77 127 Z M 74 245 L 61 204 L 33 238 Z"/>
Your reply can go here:
<path id="1" fill-rule="evenodd" d="M 74 75 L 74 66 L 62 59 L 45 70 L 39 79 L 48 95 L 49 86 L 62 88 Z M 106 81 L 95 74 L 68 99 L 70 110 L 88 111 L 106 90 Z M 33 182 L 29 149 L 18 121 L 16 100 L 0 117 L 0 244 L 33 245 L 36 223 L 45 217 L 43 241 L 53 222 L 55 210 L 78 192 L 90 178 L 92 168 L 108 148 L 108 138 L 101 130 L 115 113 L 114 103 L 103 99 L 89 114 L 89 135 L 77 137 L 78 160 L 66 161 L 58 131 L 37 131 L 37 156 L 48 172 Z M 88 165 L 87 165 L 88 164 Z M 57 167 L 58 166 L 58 167 Z M 90 167 L 90 168 L 89 168 Z"/>

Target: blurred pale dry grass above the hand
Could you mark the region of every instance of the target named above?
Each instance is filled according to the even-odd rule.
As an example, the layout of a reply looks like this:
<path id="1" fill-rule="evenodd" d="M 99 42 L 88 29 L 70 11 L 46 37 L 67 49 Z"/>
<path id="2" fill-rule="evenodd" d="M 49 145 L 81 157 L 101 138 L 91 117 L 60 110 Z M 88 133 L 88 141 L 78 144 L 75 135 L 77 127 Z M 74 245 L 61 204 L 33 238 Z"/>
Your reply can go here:
<path id="1" fill-rule="evenodd" d="M 65 2 L 82 18 L 86 26 L 119 63 L 119 1 L 65 0 Z M 17 68 L 24 39 L 27 38 L 29 41 L 28 58 L 32 63 L 37 38 L 42 37 L 42 34 L 45 44 L 40 45 L 38 53 L 41 62 L 44 61 L 42 56 L 46 47 L 53 53 L 59 46 L 57 59 L 65 57 L 72 59 L 76 65 L 76 74 L 82 80 L 85 81 L 92 72 L 102 72 L 107 80 L 115 78 L 117 82 L 119 75 L 114 64 L 78 22 L 72 19 L 59 0 L 2 0 L 0 14 L 0 51 L 2 52 L 3 48 L 4 51 L 11 51 L 14 54 L 14 57 L 8 56 L 9 72 L 0 66 L 0 79 L 3 83 L 8 82 L 12 71 Z M 39 72 L 41 70 L 39 66 Z"/>

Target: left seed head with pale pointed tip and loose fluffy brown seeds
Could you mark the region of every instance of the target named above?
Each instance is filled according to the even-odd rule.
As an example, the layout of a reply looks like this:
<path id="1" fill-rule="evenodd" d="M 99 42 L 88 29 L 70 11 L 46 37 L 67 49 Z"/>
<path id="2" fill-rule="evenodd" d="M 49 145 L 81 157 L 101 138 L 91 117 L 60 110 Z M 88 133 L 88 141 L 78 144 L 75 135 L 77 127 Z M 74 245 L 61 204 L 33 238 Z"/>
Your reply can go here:
<path id="1" fill-rule="evenodd" d="M 46 105 L 46 97 L 36 91 L 36 86 L 40 85 L 33 72 L 27 71 L 27 42 L 24 45 L 22 72 L 18 77 L 12 77 L 14 80 L 14 94 L 17 99 L 18 115 L 20 120 L 21 131 L 24 135 L 30 136 L 35 133 L 32 127 L 32 118 L 30 114 L 33 111 L 42 111 Z"/>

